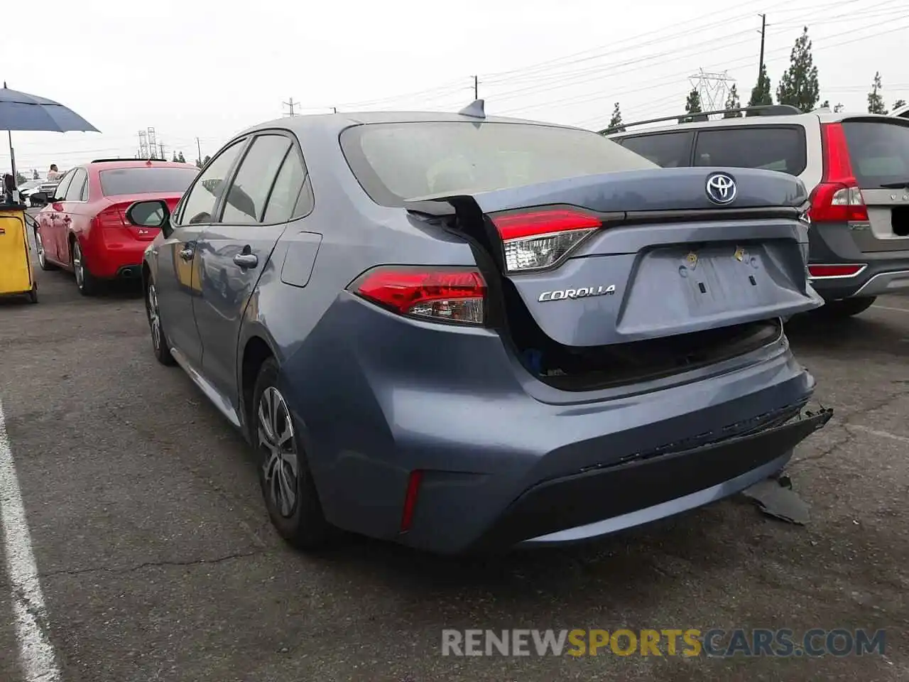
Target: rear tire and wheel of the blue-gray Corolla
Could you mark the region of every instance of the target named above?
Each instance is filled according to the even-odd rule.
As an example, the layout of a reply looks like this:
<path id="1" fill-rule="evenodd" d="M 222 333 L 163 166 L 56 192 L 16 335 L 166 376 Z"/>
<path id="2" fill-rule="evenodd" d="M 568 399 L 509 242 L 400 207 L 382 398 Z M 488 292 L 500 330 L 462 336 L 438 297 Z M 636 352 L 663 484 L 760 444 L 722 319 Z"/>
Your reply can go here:
<path id="1" fill-rule="evenodd" d="M 297 549 L 325 547 L 334 528 L 325 520 L 299 429 L 278 387 L 278 364 L 272 357 L 265 360 L 255 380 L 249 434 L 265 507 L 278 534 Z"/>

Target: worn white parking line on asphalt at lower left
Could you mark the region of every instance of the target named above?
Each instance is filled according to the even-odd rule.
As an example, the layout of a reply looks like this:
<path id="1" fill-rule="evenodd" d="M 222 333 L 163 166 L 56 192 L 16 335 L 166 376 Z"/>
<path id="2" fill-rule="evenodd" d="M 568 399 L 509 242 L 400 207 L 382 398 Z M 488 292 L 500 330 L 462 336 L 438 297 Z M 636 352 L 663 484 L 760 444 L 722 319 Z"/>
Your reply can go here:
<path id="1" fill-rule="evenodd" d="M 25 506 L 15 475 L 13 451 L 0 403 L 0 526 L 5 539 L 6 572 L 12 590 L 15 636 L 26 682 L 59 682 L 54 647 L 47 637 L 45 597 L 32 553 Z"/>

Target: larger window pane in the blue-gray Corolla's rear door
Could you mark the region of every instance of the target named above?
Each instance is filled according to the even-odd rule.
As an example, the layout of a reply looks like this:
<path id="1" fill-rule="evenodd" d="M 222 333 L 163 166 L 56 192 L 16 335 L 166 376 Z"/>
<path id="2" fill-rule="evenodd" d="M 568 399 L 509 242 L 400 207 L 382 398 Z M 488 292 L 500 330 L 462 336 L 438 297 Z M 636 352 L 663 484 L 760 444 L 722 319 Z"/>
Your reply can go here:
<path id="1" fill-rule="evenodd" d="M 220 222 L 232 225 L 261 222 L 268 193 L 290 145 L 285 135 L 255 137 L 227 189 Z"/>

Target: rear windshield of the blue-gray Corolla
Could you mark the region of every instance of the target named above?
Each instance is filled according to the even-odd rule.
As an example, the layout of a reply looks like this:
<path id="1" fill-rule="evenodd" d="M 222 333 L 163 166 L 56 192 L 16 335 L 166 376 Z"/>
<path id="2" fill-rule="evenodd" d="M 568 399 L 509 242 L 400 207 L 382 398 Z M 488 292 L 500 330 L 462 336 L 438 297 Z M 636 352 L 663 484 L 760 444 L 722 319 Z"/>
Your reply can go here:
<path id="1" fill-rule="evenodd" d="M 656 167 L 602 135 L 550 125 L 357 125 L 342 133 L 341 146 L 366 194 L 384 206 L 403 206 L 418 196 Z"/>

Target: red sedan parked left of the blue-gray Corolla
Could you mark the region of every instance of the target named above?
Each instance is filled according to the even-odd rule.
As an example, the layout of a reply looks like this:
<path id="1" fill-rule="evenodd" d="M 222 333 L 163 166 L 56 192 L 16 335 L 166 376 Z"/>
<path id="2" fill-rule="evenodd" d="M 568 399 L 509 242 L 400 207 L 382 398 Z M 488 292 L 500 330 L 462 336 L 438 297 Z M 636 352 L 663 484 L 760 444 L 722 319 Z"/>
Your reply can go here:
<path id="1" fill-rule="evenodd" d="M 38 264 L 71 270 L 85 296 L 105 279 L 138 279 L 145 246 L 159 230 L 129 225 L 126 209 L 139 199 L 164 199 L 173 211 L 198 172 L 195 165 L 156 160 L 75 166 L 37 216 Z"/>

